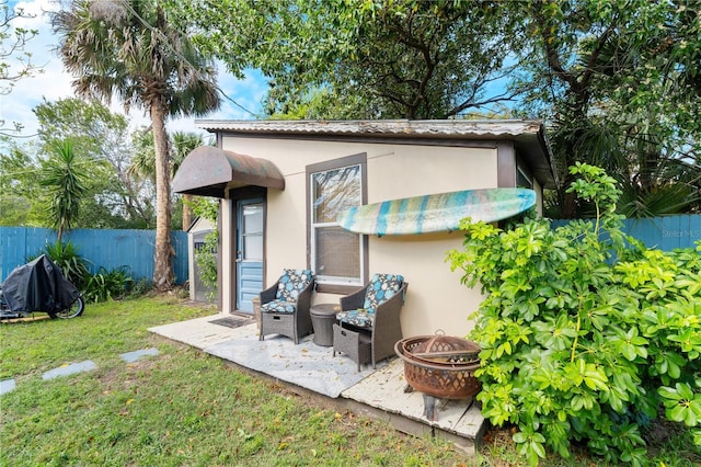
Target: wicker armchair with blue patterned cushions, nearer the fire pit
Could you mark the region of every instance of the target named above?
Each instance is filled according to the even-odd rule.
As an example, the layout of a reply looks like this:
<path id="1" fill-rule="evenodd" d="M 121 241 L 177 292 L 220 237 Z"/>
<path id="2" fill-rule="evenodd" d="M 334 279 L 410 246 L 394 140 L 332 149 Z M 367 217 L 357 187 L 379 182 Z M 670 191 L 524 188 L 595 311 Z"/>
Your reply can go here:
<path id="1" fill-rule="evenodd" d="M 382 287 L 388 278 L 390 293 Z M 402 339 L 399 314 L 407 287 L 401 275 L 375 274 L 365 287 L 342 297 L 338 321 L 333 326 L 333 356 L 344 353 L 359 372 L 364 363 L 372 362 L 375 368 L 377 362 L 394 355 L 394 344 Z"/>

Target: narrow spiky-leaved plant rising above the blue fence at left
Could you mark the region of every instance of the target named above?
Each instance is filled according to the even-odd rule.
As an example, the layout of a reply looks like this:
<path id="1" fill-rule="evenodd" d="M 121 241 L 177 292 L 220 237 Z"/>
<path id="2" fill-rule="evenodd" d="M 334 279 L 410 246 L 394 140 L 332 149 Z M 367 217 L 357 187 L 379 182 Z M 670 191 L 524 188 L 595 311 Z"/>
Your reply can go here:
<path id="1" fill-rule="evenodd" d="M 39 183 L 47 189 L 50 198 L 48 208 L 60 243 L 64 234 L 70 230 L 78 217 L 85 192 L 85 174 L 78 163 L 71 140 L 55 141 L 51 149 Z"/>

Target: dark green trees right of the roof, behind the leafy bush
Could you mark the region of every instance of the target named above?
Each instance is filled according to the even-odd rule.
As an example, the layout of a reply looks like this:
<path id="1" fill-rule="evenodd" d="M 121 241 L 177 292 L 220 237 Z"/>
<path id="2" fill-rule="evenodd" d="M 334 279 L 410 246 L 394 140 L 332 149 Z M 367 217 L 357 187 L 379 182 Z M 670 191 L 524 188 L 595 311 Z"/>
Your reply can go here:
<path id="1" fill-rule="evenodd" d="M 587 214 L 564 186 L 575 162 L 607 169 L 631 217 L 698 209 L 698 2 L 509 2 L 530 89 L 525 110 L 550 122 L 561 171 L 560 214 Z M 604 8 L 602 8 L 604 7 Z M 535 86 L 533 86 L 535 84 Z M 578 213 L 577 213 L 578 210 Z"/>

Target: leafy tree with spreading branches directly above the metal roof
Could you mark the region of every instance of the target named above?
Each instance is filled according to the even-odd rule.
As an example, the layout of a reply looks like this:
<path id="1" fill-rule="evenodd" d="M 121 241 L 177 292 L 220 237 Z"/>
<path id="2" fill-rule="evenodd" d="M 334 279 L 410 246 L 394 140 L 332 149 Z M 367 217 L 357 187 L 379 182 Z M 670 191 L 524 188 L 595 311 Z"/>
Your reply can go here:
<path id="1" fill-rule="evenodd" d="M 315 100 L 319 117 L 448 118 L 508 102 L 512 26 L 491 2 L 177 2 L 234 75 L 272 78 L 267 111 Z M 342 103 L 324 105 L 325 100 Z M 348 106 L 352 105 L 352 109 Z"/>

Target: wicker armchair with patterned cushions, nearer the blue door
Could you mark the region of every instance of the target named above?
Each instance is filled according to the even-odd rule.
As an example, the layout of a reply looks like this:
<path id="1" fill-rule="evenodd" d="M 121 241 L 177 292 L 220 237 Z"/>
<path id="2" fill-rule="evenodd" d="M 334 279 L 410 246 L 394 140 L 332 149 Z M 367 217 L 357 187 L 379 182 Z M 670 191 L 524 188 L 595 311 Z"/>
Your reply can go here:
<path id="1" fill-rule="evenodd" d="M 261 335 L 281 334 L 299 339 L 311 334 L 311 294 L 314 274 L 310 270 L 285 270 L 280 278 L 261 292 Z"/>

